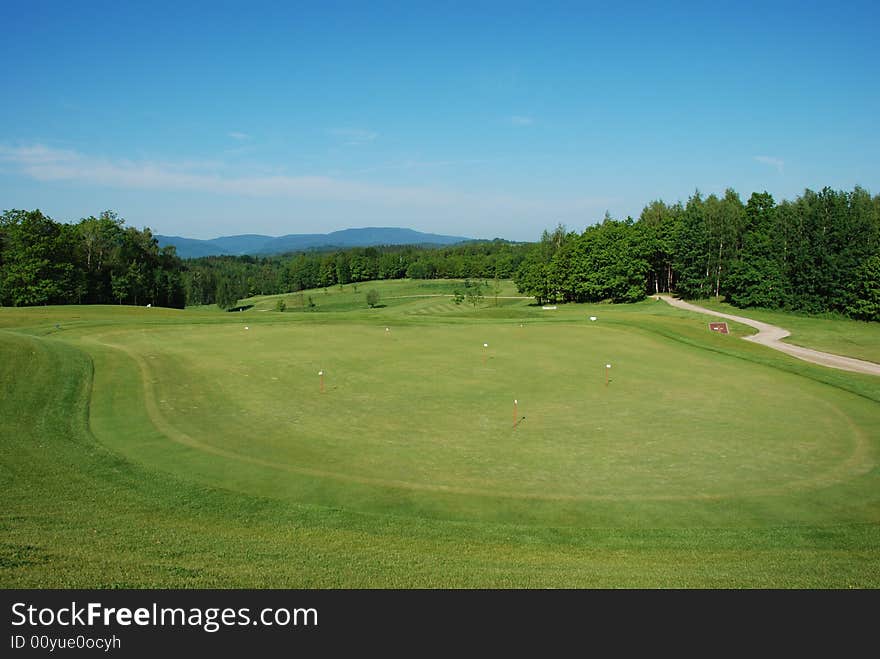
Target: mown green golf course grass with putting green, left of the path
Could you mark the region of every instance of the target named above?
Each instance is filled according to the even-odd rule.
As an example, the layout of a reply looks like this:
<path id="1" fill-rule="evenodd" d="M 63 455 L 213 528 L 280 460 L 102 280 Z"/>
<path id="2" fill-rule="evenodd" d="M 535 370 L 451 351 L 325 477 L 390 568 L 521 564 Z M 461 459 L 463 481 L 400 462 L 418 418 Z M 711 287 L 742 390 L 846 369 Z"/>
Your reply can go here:
<path id="1" fill-rule="evenodd" d="M 661 302 L 352 288 L 0 309 L 0 584 L 880 586 L 877 378 Z"/>

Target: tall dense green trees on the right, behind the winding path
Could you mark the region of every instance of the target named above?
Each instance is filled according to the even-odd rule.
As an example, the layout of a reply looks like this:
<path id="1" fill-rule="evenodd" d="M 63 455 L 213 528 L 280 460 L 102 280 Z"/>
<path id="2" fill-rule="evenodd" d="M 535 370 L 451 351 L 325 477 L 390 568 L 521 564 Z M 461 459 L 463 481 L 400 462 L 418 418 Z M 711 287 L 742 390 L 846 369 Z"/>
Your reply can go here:
<path id="1" fill-rule="evenodd" d="M 635 302 L 674 292 L 738 307 L 837 312 L 880 320 L 880 195 L 805 190 L 776 203 L 724 195 L 653 201 L 638 220 L 583 233 L 558 226 L 530 246 L 514 277 L 539 302 Z"/>

